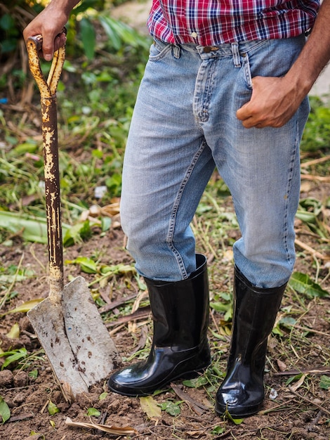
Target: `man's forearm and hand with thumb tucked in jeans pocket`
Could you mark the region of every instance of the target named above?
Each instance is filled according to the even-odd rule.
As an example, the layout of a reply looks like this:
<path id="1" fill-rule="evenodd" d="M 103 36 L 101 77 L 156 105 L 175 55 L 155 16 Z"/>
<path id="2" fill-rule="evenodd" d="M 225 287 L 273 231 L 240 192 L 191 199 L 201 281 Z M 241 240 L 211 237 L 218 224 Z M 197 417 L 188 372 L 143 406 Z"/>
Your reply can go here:
<path id="1" fill-rule="evenodd" d="M 301 54 L 284 77 L 254 77 L 251 101 L 237 110 L 244 127 L 282 127 L 330 59 L 330 0 L 324 0 Z"/>

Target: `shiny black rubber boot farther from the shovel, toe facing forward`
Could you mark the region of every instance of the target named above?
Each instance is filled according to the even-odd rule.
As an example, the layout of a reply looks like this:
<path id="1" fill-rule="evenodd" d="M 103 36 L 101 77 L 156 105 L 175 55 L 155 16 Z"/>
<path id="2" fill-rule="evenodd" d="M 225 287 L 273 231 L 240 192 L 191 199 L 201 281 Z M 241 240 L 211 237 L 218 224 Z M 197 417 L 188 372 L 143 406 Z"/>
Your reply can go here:
<path id="1" fill-rule="evenodd" d="M 234 317 L 227 375 L 216 394 L 216 412 L 233 418 L 258 413 L 265 399 L 263 374 L 268 336 L 286 285 L 254 287 L 235 268 Z"/>

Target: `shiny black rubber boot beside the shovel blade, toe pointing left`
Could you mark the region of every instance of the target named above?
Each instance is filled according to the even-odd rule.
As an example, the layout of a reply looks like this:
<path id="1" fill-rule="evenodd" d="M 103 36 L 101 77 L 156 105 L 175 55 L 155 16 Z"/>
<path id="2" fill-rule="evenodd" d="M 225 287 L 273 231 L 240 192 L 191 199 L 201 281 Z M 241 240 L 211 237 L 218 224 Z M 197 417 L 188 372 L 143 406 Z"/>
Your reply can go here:
<path id="1" fill-rule="evenodd" d="M 195 377 L 211 362 L 206 337 L 209 282 L 206 258 L 197 254 L 197 270 L 176 283 L 145 278 L 154 322 L 152 349 L 140 361 L 114 373 L 111 391 L 125 396 L 152 394 L 171 381 Z"/>

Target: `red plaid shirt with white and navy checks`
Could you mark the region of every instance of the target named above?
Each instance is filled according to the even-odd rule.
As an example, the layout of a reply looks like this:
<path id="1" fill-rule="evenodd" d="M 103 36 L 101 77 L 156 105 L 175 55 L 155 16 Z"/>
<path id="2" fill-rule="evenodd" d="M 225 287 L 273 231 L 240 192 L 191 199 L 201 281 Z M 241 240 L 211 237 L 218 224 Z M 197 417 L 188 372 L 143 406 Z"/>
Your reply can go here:
<path id="1" fill-rule="evenodd" d="M 296 37 L 312 27 L 319 0 L 153 0 L 152 37 L 202 46 Z"/>

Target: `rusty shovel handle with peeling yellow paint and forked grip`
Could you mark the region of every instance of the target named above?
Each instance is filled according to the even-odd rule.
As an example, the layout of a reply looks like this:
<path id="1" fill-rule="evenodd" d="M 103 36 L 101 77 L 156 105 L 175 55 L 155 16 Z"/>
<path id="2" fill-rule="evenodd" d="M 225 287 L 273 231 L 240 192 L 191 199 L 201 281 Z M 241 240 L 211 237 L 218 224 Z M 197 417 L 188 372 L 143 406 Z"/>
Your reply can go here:
<path id="1" fill-rule="evenodd" d="M 27 39 L 29 68 L 37 82 L 41 95 L 42 137 L 44 150 L 44 178 L 46 198 L 46 219 L 49 257 L 49 299 L 60 304 L 63 282 L 62 223 L 60 213 L 60 172 L 58 163 L 58 122 L 56 89 L 65 60 L 65 48 L 54 53 L 51 70 L 46 80 L 39 62 L 42 37 Z"/>

